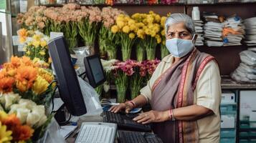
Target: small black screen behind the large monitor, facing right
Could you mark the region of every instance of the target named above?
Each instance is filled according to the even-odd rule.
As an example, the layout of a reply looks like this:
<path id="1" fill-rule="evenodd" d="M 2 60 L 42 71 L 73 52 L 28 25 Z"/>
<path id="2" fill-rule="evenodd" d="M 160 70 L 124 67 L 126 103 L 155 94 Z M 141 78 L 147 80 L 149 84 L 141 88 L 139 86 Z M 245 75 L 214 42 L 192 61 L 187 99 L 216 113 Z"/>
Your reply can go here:
<path id="1" fill-rule="evenodd" d="M 95 88 L 103 84 L 105 82 L 105 72 L 100 61 L 100 56 L 86 56 L 84 61 L 85 72 L 90 85 Z"/>

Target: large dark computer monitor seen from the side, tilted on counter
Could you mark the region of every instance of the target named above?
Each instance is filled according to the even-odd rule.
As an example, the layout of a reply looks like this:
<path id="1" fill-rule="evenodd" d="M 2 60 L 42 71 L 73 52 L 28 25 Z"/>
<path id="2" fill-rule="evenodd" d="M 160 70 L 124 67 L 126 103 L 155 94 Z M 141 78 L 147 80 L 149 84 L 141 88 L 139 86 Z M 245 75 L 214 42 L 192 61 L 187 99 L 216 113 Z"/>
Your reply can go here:
<path id="1" fill-rule="evenodd" d="M 57 76 L 60 97 L 65 107 L 74 116 L 86 114 L 85 101 L 64 37 L 52 39 L 48 47 Z"/>

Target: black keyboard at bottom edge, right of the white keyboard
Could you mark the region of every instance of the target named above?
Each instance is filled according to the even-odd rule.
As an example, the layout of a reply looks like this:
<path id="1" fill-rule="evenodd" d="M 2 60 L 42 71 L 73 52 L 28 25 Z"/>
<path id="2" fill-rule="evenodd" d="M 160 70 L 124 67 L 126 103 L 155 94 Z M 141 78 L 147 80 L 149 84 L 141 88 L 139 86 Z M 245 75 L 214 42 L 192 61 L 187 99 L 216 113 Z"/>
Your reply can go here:
<path id="1" fill-rule="evenodd" d="M 118 142 L 120 143 L 162 143 L 156 134 L 149 132 L 131 132 L 118 130 Z"/>

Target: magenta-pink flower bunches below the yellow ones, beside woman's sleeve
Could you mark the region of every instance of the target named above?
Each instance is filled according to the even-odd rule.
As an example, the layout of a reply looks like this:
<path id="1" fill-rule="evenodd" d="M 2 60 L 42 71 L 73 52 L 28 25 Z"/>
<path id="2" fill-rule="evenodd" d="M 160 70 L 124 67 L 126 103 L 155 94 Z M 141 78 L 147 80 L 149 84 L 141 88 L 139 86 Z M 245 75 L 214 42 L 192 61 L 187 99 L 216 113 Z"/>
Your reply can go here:
<path id="1" fill-rule="evenodd" d="M 112 72 L 115 77 L 117 89 L 117 102 L 125 102 L 128 86 L 131 89 L 131 99 L 138 96 L 140 89 L 151 78 L 156 66 L 160 63 L 158 59 L 146 61 L 118 61 L 113 64 Z M 129 84 L 128 77 L 131 77 Z"/>

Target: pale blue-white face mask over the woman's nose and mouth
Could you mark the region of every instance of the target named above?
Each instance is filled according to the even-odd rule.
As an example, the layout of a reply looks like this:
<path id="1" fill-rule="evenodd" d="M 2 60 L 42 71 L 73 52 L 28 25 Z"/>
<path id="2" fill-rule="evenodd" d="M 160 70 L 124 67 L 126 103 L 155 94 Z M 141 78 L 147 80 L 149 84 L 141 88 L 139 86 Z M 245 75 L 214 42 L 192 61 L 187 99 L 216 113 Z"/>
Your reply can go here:
<path id="1" fill-rule="evenodd" d="M 166 40 L 166 48 L 169 50 L 169 52 L 178 58 L 181 58 L 183 56 L 186 56 L 186 54 L 189 53 L 194 47 L 193 44 L 194 36 L 191 40 L 186 39 L 167 39 Z"/>

